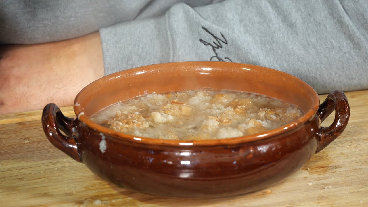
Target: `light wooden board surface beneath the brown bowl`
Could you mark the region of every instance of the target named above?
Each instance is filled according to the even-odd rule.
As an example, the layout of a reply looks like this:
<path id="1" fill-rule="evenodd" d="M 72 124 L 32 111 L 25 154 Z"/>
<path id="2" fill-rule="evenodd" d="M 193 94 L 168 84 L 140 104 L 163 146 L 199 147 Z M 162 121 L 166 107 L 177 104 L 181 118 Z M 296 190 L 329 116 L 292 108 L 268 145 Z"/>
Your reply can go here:
<path id="1" fill-rule="evenodd" d="M 206 200 L 120 189 L 53 147 L 42 131 L 41 111 L 3 115 L 0 206 L 368 206 L 368 90 L 346 95 L 351 107 L 346 130 L 300 171 L 268 189 Z M 75 116 L 71 106 L 61 111 Z"/>

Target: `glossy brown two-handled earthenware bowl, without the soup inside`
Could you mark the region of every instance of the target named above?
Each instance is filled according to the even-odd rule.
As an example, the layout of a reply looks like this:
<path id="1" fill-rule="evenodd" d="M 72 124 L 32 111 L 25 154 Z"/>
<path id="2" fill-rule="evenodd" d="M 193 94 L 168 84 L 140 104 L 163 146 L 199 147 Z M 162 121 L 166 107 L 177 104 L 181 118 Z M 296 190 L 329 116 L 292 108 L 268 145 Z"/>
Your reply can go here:
<path id="1" fill-rule="evenodd" d="M 145 91 L 196 89 L 257 92 L 296 104 L 305 115 L 262 134 L 195 141 L 135 137 L 89 119 L 100 109 Z M 321 127 L 333 110 L 333 123 Z M 350 109 L 342 91 L 332 91 L 319 105 L 313 88 L 281 71 L 240 63 L 180 62 L 100 78 L 79 92 L 74 112 L 77 119 L 65 117 L 49 103 L 42 113 L 43 130 L 55 147 L 102 179 L 159 196 L 214 198 L 253 192 L 298 171 L 343 132 Z M 106 150 L 100 149 L 105 144 Z"/>

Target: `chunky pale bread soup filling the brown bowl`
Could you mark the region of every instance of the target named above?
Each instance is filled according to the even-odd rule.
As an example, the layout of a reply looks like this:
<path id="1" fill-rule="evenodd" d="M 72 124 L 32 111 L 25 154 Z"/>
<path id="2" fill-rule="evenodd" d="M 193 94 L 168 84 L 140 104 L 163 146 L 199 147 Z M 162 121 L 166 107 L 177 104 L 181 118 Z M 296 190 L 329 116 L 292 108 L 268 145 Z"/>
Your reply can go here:
<path id="1" fill-rule="evenodd" d="M 295 105 L 256 93 L 181 91 L 118 102 L 91 119 L 140 137 L 203 140 L 262 133 L 301 115 Z"/>

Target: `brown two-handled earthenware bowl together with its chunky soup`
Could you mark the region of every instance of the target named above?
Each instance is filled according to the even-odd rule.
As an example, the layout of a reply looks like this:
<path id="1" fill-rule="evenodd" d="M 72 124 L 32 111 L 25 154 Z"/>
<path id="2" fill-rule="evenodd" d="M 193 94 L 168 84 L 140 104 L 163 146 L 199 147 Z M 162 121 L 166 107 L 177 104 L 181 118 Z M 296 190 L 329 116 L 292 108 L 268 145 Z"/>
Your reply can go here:
<path id="1" fill-rule="evenodd" d="M 334 122 L 322 127 L 333 110 Z M 298 171 L 342 133 L 350 109 L 342 91 L 319 105 L 312 87 L 281 71 L 177 62 L 100 78 L 79 92 L 74 112 L 77 119 L 46 105 L 43 129 L 100 178 L 142 193 L 213 198 Z"/>

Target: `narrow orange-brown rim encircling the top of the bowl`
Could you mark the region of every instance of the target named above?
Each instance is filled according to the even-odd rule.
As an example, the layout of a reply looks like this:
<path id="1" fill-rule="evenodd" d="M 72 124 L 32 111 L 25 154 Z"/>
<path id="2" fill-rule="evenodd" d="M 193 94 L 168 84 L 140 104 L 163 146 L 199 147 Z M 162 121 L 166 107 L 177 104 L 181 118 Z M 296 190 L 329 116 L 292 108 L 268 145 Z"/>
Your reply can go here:
<path id="1" fill-rule="evenodd" d="M 209 61 L 176 62 L 176 63 L 154 64 L 154 65 L 151 65 L 151 67 L 152 66 L 160 67 L 164 64 L 181 64 L 182 66 L 185 66 L 185 64 L 189 64 L 189 63 L 192 63 L 192 64 L 196 63 L 196 66 L 208 66 L 209 63 L 215 64 L 215 63 L 209 62 Z M 229 65 L 230 64 L 234 64 L 234 66 L 240 66 L 240 65 L 242 65 L 243 67 L 253 66 L 253 67 L 259 67 L 259 68 L 262 68 L 262 69 L 273 70 L 273 71 L 276 71 L 277 73 L 280 73 L 280 75 L 282 75 L 282 76 L 288 76 L 288 78 L 292 78 L 294 80 L 299 81 L 300 84 L 303 84 L 303 88 L 309 88 L 309 90 L 314 91 L 314 94 L 312 94 L 313 97 L 311 97 L 313 99 L 313 104 L 312 104 L 311 108 L 309 108 L 309 110 L 302 117 L 297 119 L 295 122 L 291 122 L 289 124 L 286 124 L 284 126 L 278 127 L 276 129 L 273 129 L 273 130 L 269 130 L 266 133 L 252 134 L 252 135 L 243 136 L 243 137 L 224 138 L 224 139 L 215 139 L 215 140 L 161 140 L 161 139 L 157 139 L 157 138 L 133 136 L 133 135 L 130 135 L 130 134 L 124 134 L 124 133 L 121 133 L 121 132 L 118 132 L 118 131 L 114 131 L 114 130 L 106 128 L 106 127 L 104 127 L 100 124 L 97 124 L 96 122 L 93 122 L 86 115 L 84 115 L 82 106 L 75 104 L 75 103 L 78 102 L 79 99 L 81 99 L 80 94 L 82 94 L 82 92 L 85 90 L 85 88 L 91 87 L 91 85 L 95 85 L 95 84 L 98 84 L 100 82 L 106 82 L 106 81 L 109 81 L 111 79 L 118 78 L 118 77 L 121 76 L 121 73 L 124 73 L 124 71 L 120 71 L 120 72 L 113 73 L 113 74 L 110 74 L 108 76 L 102 77 L 102 78 L 90 83 L 85 88 L 83 88 L 78 93 L 77 97 L 75 98 L 74 112 L 78 116 L 78 119 L 82 123 L 86 124 L 86 126 L 88 126 L 91 129 L 95 129 L 96 131 L 98 131 L 100 133 L 109 135 L 109 136 L 112 137 L 112 139 L 120 139 L 120 140 L 126 140 L 126 141 L 135 142 L 135 143 L 149 144 L 149 145 L 181 146 L 181 147 L 184 147 L 184 146 L 188 147 L 188 146 L 230 145 L 230 144 L 240 144 L 240 143 L 245 143 L 245 142 L 250 142 L 250 141 L 266 139 L 266 138 L 269 138 L 269 137 L 273 137 L 275 135 L 280 135 L 280 134 L 284 134 L 284 133 L 294 131 L 294 130 L 300 128 L 301 126 L 303 126 L 304 123 L 308 122 L 312 117 L 314 117 L 314 115 L 315 115 L 315 113 L 316 113 L 316 111 L 318 110 L 318 107 L 319 107 L 319 97 L 318 97 L 317 93 L 315 92 L 315 90 L 310 85 L 308 85 L 307 83 L 302 81 L 300 78 L 297 78 L 295 76 L 292 76 L 288 73 L 284 73 L 284 72 L 279 71 L 279 70 L 274 70 L 274 69 L 270 69 L 270 68 L 266 68 L 266 67 L 255 66 L 255 65 L 251 65 L 251 64 L 242 64 L 242 63 L 229 63 Z M 128 70 L 144 70 L 146 67 L 147 66 L 141 66 L 141 67 L 136 67 L 136 68 L 132 68 L 132 69 L 128 69 Z M 229 66 L 229 67 L 231 67 L 231 66 Z"/>

